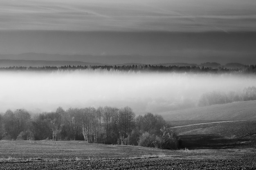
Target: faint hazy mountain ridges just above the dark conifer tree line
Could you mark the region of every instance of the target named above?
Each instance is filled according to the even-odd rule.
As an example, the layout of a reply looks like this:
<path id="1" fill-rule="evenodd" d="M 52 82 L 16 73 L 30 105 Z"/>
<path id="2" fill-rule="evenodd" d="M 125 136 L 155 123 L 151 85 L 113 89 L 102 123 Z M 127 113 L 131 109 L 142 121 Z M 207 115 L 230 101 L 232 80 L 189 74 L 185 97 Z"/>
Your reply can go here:
<path id="1" fill-rule="evenodd" d="M 167 56 L 162 56 L 166 58 Z M 195 63 L 186 63 L 186 62 L 168 62 L 161 63 L 156 60 L 157 57 L 153 56 L 137 56 L 137 55 L 106 55 L 106 56 L 97 56 L 97 55 L 61 55 L 61 54 L 43 54 L 43 53 L 22 53 L 16 55 L 0 55 L 0 67 L 9 67 L 9 66 L 33 66 L 33 67 L 42 67 L 42 66 L 89 66 L 89 65 L 116 65 L 116 66 L 128 66 L 128 65 L 157 65 L 157 66 L 199 66 L 199 67 L 209 67 L 209 68 L 243 68 L 243 64 L 240 63 L 227 63 L 221 65 L 216 62 L 204 62 L 202 64 Z M 169 57 L 172 58 L 172 57 Z M 128 60 L 129 59 L 129 60 Z M 138 60 L 137 60 L 138 59 Z M 151 62 L 148 62 L 148 60 Z M 161 59 L 161 57 L 159 58 Z M 116 63 L 111 63 L 111 60 L 114 60 Z M 128 62 L 128 61 L 139 61 L 139 62 Z M 173 59 L 175 60 L 175 59 Z"/>

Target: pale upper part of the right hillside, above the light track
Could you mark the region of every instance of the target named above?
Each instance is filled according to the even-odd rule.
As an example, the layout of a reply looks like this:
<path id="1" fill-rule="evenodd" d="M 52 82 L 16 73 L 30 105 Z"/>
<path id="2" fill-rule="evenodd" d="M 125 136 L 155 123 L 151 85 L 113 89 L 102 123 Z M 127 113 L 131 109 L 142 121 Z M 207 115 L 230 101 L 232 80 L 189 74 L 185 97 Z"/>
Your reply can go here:
<path id="1" fill-rule="evenodd" d="M 168 121 L 182 120 L 255 120 L 256 101 L 234 102 L 175 110 L 161 114 Z"/>

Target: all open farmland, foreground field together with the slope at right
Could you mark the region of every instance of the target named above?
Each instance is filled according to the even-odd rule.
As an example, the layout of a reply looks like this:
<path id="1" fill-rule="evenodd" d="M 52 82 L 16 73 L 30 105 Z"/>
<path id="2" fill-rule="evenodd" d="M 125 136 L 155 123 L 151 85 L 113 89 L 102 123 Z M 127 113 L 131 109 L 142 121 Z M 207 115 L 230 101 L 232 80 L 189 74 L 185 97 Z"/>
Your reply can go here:
<path id="1" fill-rule="evenodd" d="M 179 150 L 84 141 L 2 140 L 0 170 L 256 169 L 254 104 L 238 102 L 195 108 L 191 113 L 173 112 L 169 118 L 180 114 L 170 121 L 179 138 Z M 245 120 L 240 120 L 243 115 Z"/>

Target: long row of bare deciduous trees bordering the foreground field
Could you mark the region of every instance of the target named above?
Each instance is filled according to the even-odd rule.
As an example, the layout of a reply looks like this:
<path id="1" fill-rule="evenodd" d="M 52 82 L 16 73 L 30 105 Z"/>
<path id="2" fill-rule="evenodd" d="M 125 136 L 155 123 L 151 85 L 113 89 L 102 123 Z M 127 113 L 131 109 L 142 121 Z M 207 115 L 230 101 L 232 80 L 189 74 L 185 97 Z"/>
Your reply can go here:
<path id="1" fill-rule="evenodd" d="M 177 135 L 159 115 L 135 117 L 126 106 L 69 108 L 31 117 L 25 109 L 0 115 L 0 139 L 83 140 L 90 143 L 177 148 Z"/>

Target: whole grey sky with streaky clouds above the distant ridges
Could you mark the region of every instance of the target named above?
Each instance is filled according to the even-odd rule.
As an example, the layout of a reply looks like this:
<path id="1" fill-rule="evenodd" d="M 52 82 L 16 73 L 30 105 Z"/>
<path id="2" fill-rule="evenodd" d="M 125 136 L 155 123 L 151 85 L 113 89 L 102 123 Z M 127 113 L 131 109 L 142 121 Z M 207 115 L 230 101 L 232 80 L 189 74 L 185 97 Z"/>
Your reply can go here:
<path id="1" fill-rule="evenodd" d="M 46 53 L 102 56 L 99 62 L 106 55 L 128 55 L 130 63 L 154 56 L 143 60 L 158 64 L 159 56 L 167 56 L 161 63 L 256 64 L 254 44 L 255 0 L 0 1 L 0 59 Z"/>

